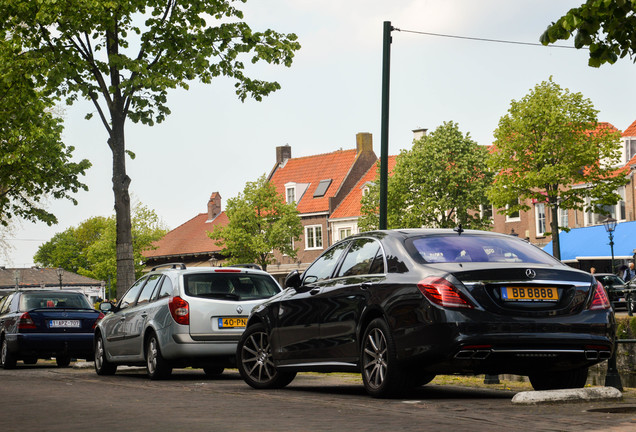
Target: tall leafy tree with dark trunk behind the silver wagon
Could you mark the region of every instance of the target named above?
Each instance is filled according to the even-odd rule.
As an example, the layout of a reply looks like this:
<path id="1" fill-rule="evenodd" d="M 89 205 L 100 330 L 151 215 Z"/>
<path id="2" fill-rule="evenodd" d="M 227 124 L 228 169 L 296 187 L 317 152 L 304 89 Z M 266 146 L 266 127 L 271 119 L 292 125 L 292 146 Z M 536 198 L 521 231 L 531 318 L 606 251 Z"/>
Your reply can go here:
<path id="1" fill-rule="evenodd" d="M 244 3 L 246 0 L 239 0 Z M 280 88 L 250 78 L 245 61 L 290 66 L 294 34 L 252 31 L 234 0 L 0 0 L 0 38 L 41 65 L 40 82 L 68 103 L 85 98 L 105 127 L 113 155 L 117 291 L 134 281 L 124 126 L 153 125 L 170 113 L 169 89 L 225 76 L 240 100 Z M 92 113 L 87 117 L 90 118 Z"/>

